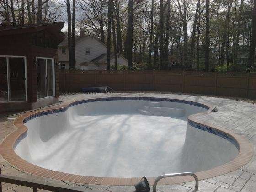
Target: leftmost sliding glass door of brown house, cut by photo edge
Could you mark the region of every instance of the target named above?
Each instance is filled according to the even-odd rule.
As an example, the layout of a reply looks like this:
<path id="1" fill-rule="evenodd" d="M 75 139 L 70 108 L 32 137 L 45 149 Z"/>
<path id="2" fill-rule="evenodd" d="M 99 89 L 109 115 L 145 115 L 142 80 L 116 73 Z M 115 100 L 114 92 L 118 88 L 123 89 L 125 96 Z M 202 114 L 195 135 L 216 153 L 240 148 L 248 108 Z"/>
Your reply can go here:
<path id="1" fill-rule="evenodd" d="M 27 101 L 26 58 L 0 56 L 0 102 Z"/>

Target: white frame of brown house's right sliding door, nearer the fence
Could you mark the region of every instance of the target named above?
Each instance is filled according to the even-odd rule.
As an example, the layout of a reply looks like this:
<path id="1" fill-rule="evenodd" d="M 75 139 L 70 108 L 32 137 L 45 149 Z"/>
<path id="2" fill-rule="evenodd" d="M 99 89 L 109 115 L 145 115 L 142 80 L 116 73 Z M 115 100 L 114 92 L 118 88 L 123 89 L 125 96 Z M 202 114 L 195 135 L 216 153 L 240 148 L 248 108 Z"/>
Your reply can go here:
<path id="1" fill-rule="evenodd" d="M 37 59 L 45 59 L 45 77 L 47 78 L 46 81 L 45 81 L 45 91 L 46 91 L 46 97 L 43 97 L 43 98 L 38 98 L 38 87 L 37 87 L 37 100 L 38 99 L 44 99 L 44 98 L 48 98 L 48 97 L 55 97 L 55 64 L 54 64 L 54 58 L 48 58 L 48 57 L 36 57 L 36 60 Z M 53 95 L 52 96 L 48 96 L 48 91 L 47 91 L 47 80 L 48 80 L 48 77 L 47 77 L 47 60 L 52 60 L 52 69 L 53 69 Z M 38 64 L 38 63 L 37 63 Z"/>

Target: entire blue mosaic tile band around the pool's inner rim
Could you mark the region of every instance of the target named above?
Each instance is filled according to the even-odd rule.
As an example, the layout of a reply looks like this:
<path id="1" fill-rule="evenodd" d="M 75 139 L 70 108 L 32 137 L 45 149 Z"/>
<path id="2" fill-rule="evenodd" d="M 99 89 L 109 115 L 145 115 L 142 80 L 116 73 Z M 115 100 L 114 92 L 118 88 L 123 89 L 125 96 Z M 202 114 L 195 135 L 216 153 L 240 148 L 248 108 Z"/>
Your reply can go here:
<path id="1" fill-rule="evenodd" d="M 59 112 L 65 112 L 66 110 L 69 109 L 69 107 L 75 106 L 75 105 L 79 105 L 79 104 L 83 104 L 83 103 L 89 103 L 89 102 L 99 102 L 99 101 L 165 101 L 165 102 L 177 102 L 177 103 L 184 103 L 184 104 L 188 104 L 188 105 L 193 105 L 193 106 L 197 106 L 197 107 L 202 107 L 204 109 L 209 109 L 208 106 L 202 104 L 202 103 L 197 103 L 194 101 L 186 101 L 186 100 L 179 100 L 179 99 L 168 99 L 168 98 L 158 98 L 158 97 L 107 97 L 107 98 L 96 98 L 96 99 L 86 99 L 86 100 L 81 100 L 81 101 L 75 101 L 71 104 L 69 104 L 67 107 L 61 108 L 61 109 L 52 109 L 52 110 L 48 110 L 48 111 L 44 111 L 44 112 L 38 112 L 36 114 L 33 114 L 27 118 L 25 118 L 23 120 L 23 123 L 26 123 L 34 118 L 37 117 L 41 117 L 44 115 L 49 115 L 49 114 L 54 114 L 54 113 L 59 113 Z M 200 124 L 200 123 L 196 123 L 193 122 L 191 120 L 188 120 L 188 124 L 201 129 L 203 131 L 207 131 L 209 133 L 215 134 L 219 137 L 222 137 L 226 140 L 228 140 L 229 142 L 231 142 L 232 144 L 235 145 L 235 147 L 239 150 L 239 144 L 238 142 L 235 140 L 235 138 L 233 138 L 231 135 L 224 133 L 223 131 L 220 131 L 218 129 L 215 128 L 211 128 L 208 127 L 206 125 Z M 27 136 L 27 135 L 26 135 Z M 18 144 L 24 137 L 26 136 L 22 136 L 21 138 L 16 140 L 16 143 Z"/>

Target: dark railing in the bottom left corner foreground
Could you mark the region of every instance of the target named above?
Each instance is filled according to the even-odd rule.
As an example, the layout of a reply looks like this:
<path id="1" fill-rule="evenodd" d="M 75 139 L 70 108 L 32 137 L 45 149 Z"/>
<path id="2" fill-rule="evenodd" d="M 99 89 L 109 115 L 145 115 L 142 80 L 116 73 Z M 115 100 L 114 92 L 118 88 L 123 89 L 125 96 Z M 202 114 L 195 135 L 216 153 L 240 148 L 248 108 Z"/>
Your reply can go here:
<path id="1" fill-rule="evenodd" d="M 23 179 L 15 176 L 5 176 L 1 175 L 1 167 L 0 167 L 0 192 L 2 192 L 2 182 L 3 183 L 11 183 L 26 187 L 31 187 L 33 192 L 37 192 L 37 189 L 44 189 L 54 192 L 102 192 L 100 190 L 91 190 L 91 189 L 81 189 L 81 188 L 74 188 L 74 187 L 65 187 L 61 185 L 40 182 L 40 181 L 32 181 L 28 179 Z"/>

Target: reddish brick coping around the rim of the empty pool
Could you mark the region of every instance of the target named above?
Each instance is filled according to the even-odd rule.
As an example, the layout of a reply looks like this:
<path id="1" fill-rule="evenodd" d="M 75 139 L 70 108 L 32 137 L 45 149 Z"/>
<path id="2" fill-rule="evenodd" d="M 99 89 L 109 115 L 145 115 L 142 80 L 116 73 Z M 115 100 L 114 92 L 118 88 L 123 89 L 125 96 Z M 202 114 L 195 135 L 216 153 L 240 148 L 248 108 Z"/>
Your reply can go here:
<path id="1" fill-rule="evenodd" d="M 111 96 L 111 97 L 107 97 L 107 98 L 115 98 L 115 97 Z M 127 97 L 124 96 L 124 97 L 120 97 L 120 98 L 127 98 Z M 147 97 L 147 98 L 154 100 L 155 97 Z M 97 99 L 102 99 L 102 98 L 97 98 Z M 161 98 L 161 99 L 165 99 L 165 98 Z M 90 100 L 90 99 L 87 99 L 87 100 Z M 94 99 L 92 99 L 92 100 L 94 100 Z M 174 100 L 176 100 L 176 99 L 174 99 Z M 27 119 L 28 117 L 35 116 L 42 112 L 49 112 L 52 110 L 60 110 L 61 111 L 69 106 L 70 107 L 73 106 L 74 103 L 79 104 L 80 101 L 81 100 L 68 102 L 68 103 L 63 104 L 62 106 L 52 107 L 48 110 L 42 109 L 42 110 L 37 110 L 37 111 L 33 111 L 33 112 L 27 112 L 27 113 L 17 117 L 15 119 L 15 121 L 13 122 L 13 124 L 17 128 L 17 130 L 14 131 L 13 133 L 9 134 L 4 139 L 4 141 L 0 144 L 0 154 L 2 155 L 2 157 L 6 161 L 8 161 L 11 165 L 13 165 L 14 167 L 16 167 L 17 169 L 19 169 L 21 171 L 25 171 L 25 172 L 31 173 L 33 175 L 48 177 L 48 178 L 57 179 L 57 180 L 61 180 L 61 181 L 69 181 L 69 182 L 76 182 L 76 183 L 83 183 L 83 184 L 122 185 L 122 186 L 123 185 L 134 185 L 135 183 L 137 183 L 140 180 L 140 178 L 82 176 L 82 175 L 64 173 L 64 172 L 60 172 L 60 171 L 53 171 L 53 170 L 39 167 L 37 165 L 33 165 L 33 164 L 27 162 L 26 160 L 23 160 L 20 156 L 18 156 L 15 153 L 15 151 L 14 151 L 15 145 L 17 144 L 19 139 L 22 139 L 21 136 L 27 132 L 27 127 L 23 124 L 25 119 Z M 82 101 L 85 101 L 85 100 L 82 100 Z M 188 100 L 182 100 L 182 101 L 188 101 Z M 234 138 L 235 141 L 239 144 L 239 153 L 235 157 L 234 160 L 231 160 L 230 162 L 228 162 L 224 165 L 217 166 L 212 169 L 197 172 L 196 174 L 198 176 L 198 179 L 203 180 L 203 179 L 208 179 L 208 178 L 212 178 L 215 176 L 223 175 L 223 174 L 229 173 L 231 171 L 235 171 L 235 170 L 243 167 L 244 165 L 246 165 L 254 155 L 253 145 L 241 135 L 238 135 L 228 129 L 221 128 L 221 127 L 218 127 L 213 124 L 210 124 L 205 121 L 197 119 L 197 117 L 200 115 L 207 115 L 207 114 L 212 113 L 212 109 L 214 107 L 211 107 L 210 105 L 203 103 L 203 102 L 194 102 L 194 101 L 188 101 L 188 102 L 198 103 L 198 104 L 208 107 L 208 111 L 206 111 L 206 112 L 190 115 L 188 117 L 188 122 L 190 121 L 193 123 L 201 124 L 203 126 L 207 126 L 209 128 L 213 128 L 217 131 L 223 132 L 223 133 L 229 135 L 230 137 Z M 147 179 L 149 180 L 149 184 L 153 185 L 153 183 L 155 181 L 155 177 L 149 177 Z M 173 177 L 173 178 L 164 178 L 159 181 L 159 184 L 160 185 L 168 185 L 168 184 L 184 183 L 184 182 L 189 182 L 189 181 L 194 181 L 193 177 L 178 176 L 178 177 Z"/>

